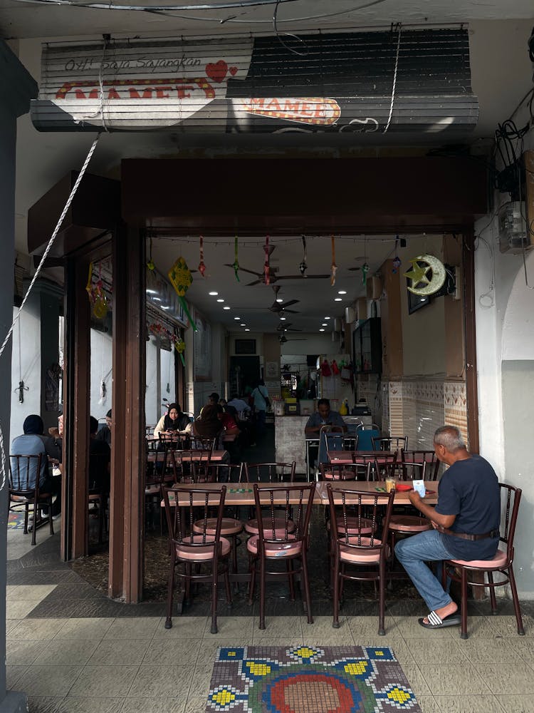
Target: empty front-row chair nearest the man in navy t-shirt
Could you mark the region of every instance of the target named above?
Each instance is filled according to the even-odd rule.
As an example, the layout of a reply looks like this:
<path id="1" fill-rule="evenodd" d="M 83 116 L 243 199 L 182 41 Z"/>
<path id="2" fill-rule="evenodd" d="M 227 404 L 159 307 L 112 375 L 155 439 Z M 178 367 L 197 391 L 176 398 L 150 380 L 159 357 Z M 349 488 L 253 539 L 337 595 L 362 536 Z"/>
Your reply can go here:
<path id="1" fill-rule="evenodd" d="M 330 551 L 333 553 L 334 612 L 333 627 L 340 626 L 339 609 L 346 579 L 375 581 L 379 585 L 378 633 L 385 635 L 385 590 L 386 560 L 389 556 L 388 531 L 395 491 L 389 493 L 369 493 L 368 491 L 347 491 L 342 485 L 327 483 L 330 505 Z M 382 511 L 386 513 L 382 520 Z M 357 520 L 365 522 L 361 528 L 352 528 L 349 518 L 356 511 Z M 365 518 L 363 517 L 365 513 Z M 368 521 L 370 520 L 370 525 Z M 377 537 L 377 528 L 382 520 L 382 534 Z M 347 567 L 355 571 L 347 572 Z M 363 568 L 363 570 L 361 569 Z"/>

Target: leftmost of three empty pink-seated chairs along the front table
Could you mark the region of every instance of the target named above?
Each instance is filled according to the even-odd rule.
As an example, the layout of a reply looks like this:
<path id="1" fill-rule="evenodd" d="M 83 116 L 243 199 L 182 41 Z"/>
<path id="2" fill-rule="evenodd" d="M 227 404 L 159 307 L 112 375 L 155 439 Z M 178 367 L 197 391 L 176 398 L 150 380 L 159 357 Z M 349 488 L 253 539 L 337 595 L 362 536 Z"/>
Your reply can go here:
<path id="1" fill-rule="evenodd" d="M 180 506 L 171 508 L 169 493 L 180 497 Z M 169 543 L 171 545 L 171 563 L 169 570 L 169 589 L 167 593 L 167 618 L 165 628 L 172 628 L 172 601 L 174 580 L 177 576 L 184 579 L 185 597 L 189 600 L 192 581 L 211 584 L 211 633 L 217 633 L 217 592 L 219 576 L 224 576 L 226 602 L 231 605 L 229 580 L 229 554 L 231 544 L 221 536 L 224 513 L 226 486 L 214 486 L 201 490 L 194 486 L 163 488 L 163 500 L 167 524 L 169 525 Z M 182 501 L 183 498 L 183 501 Z M 216 518 L 211 513 L 216 508 Z M 199 512 L 202 513 L 199 518 Z M 193 568 L 193 565 L 198 565 Z M 177 571 L 178 567 L 182 571 Z M 209 568 L 209 574 L 198 571 L 202 566 Z"/>

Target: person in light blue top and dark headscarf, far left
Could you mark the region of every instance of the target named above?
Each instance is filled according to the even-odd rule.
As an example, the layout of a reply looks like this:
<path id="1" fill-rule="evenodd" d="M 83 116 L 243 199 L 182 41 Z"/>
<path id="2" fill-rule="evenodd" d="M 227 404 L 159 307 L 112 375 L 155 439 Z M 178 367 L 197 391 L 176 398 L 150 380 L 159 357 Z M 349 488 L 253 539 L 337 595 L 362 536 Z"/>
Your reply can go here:
<path id="1" fill-rule="evenodd" d="M 61 458 L 61 449 L 53 438 L 44 435 L 43 419 L 38 414 L 27 416 L 23 426 L 23 435 L 16 436 L 11 442 L 12 456 L 33 456 L 41 453 L 41 472 L 33 470 L 30 466 L 28 487 L 35 488 L 38 478 L 41 493 L 52 493 L 56 500 L 52 504 L 52 517 L 61 513 L 61 478 L 51 476 L 48 469 L 48 458 L 58 461 Z M 33 464 L 32 464 L 33 465 Z M 24 463 L 21 463 L 21 469 Z M 27 466 L 26 466 L 27 467 Z M 12 471 L 16 472 L 16 463 L 11 463 Z M 48 517 L 48 508 L 43 508 L 43 515 Z"/>

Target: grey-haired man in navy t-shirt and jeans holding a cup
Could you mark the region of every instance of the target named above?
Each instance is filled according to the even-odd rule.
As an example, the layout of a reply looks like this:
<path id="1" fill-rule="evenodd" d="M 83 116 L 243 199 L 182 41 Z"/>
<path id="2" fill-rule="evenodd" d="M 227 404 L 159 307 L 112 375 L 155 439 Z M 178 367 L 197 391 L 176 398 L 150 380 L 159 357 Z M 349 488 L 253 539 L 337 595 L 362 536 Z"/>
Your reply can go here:
<path id="1" fill-rule="evenodd" d="M 409 574 L 430 614 L 419 619 L 427 629 L 461 623 L 458 605 L 451 600 L 426 562 L 487 560 L 497 551 L 501 501 L 498 478 L 488 461 L 471 455 L 456 426 L 442 426 L 434 434 L 434 451 L 449 468 L 439 481 L 436 507 L 426 505 L 412 491 L 412 505 L 433 526 L 395 547 L 395 555 Z"/>

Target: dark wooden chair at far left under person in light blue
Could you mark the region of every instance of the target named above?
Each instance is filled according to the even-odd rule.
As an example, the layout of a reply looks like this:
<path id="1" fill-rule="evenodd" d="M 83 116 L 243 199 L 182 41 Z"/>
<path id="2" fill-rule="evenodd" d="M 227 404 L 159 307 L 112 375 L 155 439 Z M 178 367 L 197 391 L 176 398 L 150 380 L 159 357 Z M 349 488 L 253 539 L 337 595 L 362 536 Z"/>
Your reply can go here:
<path id="1" fill-rule="evenodd" d="M 24 534 L 28 534 L 29 509 L 33 511 L 33 527 L 31 529 L 31 544 L 36 543 L 36 530 L 42 523 L 50 525 L 50 534 L 53 535 L 52 522 L 52 493 L 39 491 L 39 478 L 41 465 L 45 453 L 30 456 L 9 456 L 9 510 L 15 506 L 24 506 Z M 31 486 L 31 481 L 35 486 Z M 48 518 L 41 518 L 41 507 L 48 508 Z"/>

